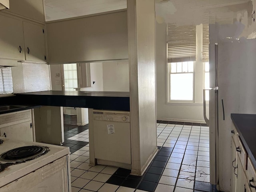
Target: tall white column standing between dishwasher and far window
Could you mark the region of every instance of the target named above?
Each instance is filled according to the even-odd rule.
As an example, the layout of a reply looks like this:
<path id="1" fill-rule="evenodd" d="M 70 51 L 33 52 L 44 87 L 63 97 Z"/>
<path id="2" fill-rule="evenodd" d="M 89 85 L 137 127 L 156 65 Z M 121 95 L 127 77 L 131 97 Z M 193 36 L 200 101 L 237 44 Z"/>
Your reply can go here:
<path id="1" fill-rule="evenodd" d="M 141 175 L 156 154 L 155 1 L 128 0 L 131 174 Z"/>

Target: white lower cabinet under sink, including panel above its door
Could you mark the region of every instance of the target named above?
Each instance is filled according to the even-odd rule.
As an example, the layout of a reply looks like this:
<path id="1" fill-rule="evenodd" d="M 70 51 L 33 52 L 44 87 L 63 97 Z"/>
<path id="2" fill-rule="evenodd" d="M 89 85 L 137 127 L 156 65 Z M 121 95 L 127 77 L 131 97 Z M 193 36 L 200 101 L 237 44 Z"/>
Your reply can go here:
<path id="1" fill-rule="evenodd" d="M 0 136 L 10 139 L 34 141 L 32 110 L 1 114 Z"/>

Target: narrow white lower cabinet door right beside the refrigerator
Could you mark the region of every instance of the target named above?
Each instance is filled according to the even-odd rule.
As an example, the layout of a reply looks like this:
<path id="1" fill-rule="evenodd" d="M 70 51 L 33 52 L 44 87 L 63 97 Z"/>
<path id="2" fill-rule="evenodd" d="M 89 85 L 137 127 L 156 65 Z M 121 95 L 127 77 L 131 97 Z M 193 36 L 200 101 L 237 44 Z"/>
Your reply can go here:
<path id="1" fill-rule="evenodd" d="M 231 138 L 231 191 L 235 192 L 236 191 L 236 144 L 233 140 L 233 138 Z"/>

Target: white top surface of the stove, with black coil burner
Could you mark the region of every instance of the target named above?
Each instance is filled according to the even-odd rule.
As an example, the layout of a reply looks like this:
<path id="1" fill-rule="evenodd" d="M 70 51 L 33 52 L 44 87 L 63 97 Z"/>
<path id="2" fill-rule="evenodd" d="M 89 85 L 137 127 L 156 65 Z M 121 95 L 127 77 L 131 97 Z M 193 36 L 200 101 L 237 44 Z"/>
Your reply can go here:
<path id="1" fill-rule="evenodd" d="M 69 148 L 64 146 L 12 140 L 5 137 L 0 137 L 0 139 L 3 140 L 2 144 L 0 144 L 0 156 L 2 158 L 0 158 L 0 187 L 70 154 Z M 25 150 L 21 148 L 24 146 L 26 146 Z M 27 146 L 30 147 L 27 148 Z M 39 148 L 36 147 L 36 149 L 34 149 L 34 147 L 31 148 L 31 146 L 39 146 Z M 33 155 L 30 157 L 22 155 L 22 160 L 10 159 L 10 156 L 12 158 L 13 152 L 26 154 L 28 151 L 33 151 Z M 39 153 L 37 154 L 36 151 L 39 151 Z M 6 152 L 8 152 L 8 159 L 4 160 L 7 154 Z"/>

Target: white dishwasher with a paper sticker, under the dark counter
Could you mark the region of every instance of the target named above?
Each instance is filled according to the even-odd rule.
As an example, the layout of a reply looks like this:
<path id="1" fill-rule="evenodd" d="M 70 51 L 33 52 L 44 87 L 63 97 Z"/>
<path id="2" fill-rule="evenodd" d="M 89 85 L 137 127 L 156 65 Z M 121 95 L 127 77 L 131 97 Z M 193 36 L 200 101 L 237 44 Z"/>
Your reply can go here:
<path id="1" fill-rule="evenodd" d="M 131 168 L 130 112 L 93 110 L 97 164 Z"/>

